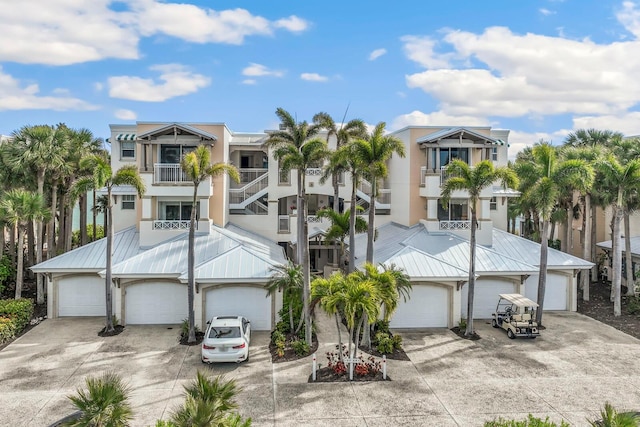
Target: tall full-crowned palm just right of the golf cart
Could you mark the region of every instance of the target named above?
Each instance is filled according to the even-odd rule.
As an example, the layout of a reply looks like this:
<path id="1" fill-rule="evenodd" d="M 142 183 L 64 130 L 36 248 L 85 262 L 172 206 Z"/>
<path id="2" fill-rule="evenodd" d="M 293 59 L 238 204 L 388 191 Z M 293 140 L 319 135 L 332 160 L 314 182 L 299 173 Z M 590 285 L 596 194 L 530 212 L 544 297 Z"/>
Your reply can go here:
<path id="1" fill-rule="evenodd" d="M 544 295 L 547 284 L 547 255 L 549 246 L 549 222 L 558 203 L 561 188 L 573 188 L 585 192 L 593 183 L 593 168 L 582 159 L 561 161 L 556 148 L 544 141 L 531 150 L 531 158 L 516 161 L 522 197 L 536 206 L 542 219 L 540 243 L 540 274 L 538 276 L 538 305 L 536 321 L 542 324 Z"/>

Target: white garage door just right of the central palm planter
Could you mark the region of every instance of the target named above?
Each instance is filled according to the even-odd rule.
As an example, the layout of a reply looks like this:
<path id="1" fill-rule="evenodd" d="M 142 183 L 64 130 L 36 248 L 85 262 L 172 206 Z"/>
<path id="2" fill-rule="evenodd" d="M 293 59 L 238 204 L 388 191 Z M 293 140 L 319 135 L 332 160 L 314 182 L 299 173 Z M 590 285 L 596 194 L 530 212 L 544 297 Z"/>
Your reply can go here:
<path id="1" fill-rule="evenodd" d="M 392 328 L 439 328 L 449 324 L 449 290 L 441 286 L 413 284 L 411 299 L 400 297 L 391 318 Z"/>

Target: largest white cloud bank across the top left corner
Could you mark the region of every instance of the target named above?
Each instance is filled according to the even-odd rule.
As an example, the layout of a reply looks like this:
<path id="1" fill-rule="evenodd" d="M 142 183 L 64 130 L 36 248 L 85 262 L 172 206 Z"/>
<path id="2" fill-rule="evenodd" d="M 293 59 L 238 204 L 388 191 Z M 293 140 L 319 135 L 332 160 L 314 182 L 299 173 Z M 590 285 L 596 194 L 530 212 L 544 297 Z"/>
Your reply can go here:
<path id="1" fill-rule="evenodd" d="M 124 10 L 113 9 L 114 3 Z M 249 36 L 270 36 L 279 29 L 298 33 L 309 26 L 293 15 L 271 21 L 245 9 L 160 0 L 20 0 L 0 8 L 0 21 L 0 61 L 48 65 L 137 59 L 141 37 L 242 44 Z"/>

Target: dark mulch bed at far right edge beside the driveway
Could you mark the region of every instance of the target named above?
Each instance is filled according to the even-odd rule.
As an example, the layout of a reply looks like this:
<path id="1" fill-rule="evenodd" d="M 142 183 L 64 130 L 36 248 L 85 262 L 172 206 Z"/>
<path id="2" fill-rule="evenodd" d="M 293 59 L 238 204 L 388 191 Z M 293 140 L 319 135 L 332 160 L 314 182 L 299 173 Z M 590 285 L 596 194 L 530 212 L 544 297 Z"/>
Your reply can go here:
<path id="1" fill-rule="evenodd" d="M 626 288 L 622 287 L 622 315 L 613 315 L 613 303 L 609 301 L 610 283 L 592 283 L 589 288 L 589 301 L 582 300 L 582 292 L 578 293 L 578 313 L 582 313 L 602 323 L 612 326 L 632 337 L 640 339 L 640 315 L 629 314 L 627 304 L 629 297 L 624 296 Z"/>

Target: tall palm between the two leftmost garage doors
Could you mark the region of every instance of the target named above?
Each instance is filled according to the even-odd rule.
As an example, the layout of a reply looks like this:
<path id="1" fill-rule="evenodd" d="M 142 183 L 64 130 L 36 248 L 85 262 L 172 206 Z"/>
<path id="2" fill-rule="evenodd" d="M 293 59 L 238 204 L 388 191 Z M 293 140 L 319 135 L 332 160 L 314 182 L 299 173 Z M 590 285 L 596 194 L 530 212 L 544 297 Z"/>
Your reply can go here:
<path id="1" fill-rule="evenodd" d="M 106 296 L 106 325 L 104 332 L 109 334 L 114 331 L 113 327 L 113 303 L 111 292 L 111 265 L 113 257 L 113 187 L 119 185 L 130 185 L 136 189 L 138 197 L 142 197 L 146 191 L 144 182 L 138 173 L 138 168 L 134 165 L 123 166 L 115 174 L 111 168 L 109 160 L 100 155 L 90 155 L 82 158 L 80 167 L 92 171 L 91 176 L 83 177 L 76 182 L 75 187 L 85 191 L 90 188 L 107 190 L 107 221 L 104 224 L 107 235 L 106 253 L 106 276 L 105 276 L 105 296 Z"/>

